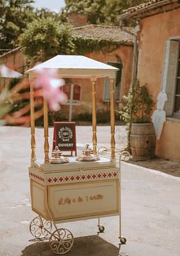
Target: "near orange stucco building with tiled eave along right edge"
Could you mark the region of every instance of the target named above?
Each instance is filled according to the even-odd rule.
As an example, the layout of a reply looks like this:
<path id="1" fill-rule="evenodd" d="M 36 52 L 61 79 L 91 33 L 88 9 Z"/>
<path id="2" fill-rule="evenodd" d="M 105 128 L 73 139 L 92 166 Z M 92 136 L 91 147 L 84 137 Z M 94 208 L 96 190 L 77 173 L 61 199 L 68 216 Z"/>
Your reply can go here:
<path id="1" fill-rule="evenodd" d="M 156 154 L 180 161 L 180 3 L 177 0 L 152 0 L 127 9 L 121 21 L 137 21 L 137 78 L 157 102 L 157 95 L 167 93 L 167 121 L 157 140 Z"/>

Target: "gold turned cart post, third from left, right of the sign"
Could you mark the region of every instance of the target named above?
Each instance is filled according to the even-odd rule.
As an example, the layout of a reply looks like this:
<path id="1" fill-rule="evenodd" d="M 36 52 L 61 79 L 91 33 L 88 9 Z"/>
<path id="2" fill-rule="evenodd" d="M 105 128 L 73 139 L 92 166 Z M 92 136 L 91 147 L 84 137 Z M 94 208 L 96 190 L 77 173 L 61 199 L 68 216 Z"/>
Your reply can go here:
<path id="1" fill-rule="evenodd" d="M 93 127 L 93 153 L 97 153 L 96 137 L 96 80 L 91 80 L 92 85 L 92 127 Z"/>

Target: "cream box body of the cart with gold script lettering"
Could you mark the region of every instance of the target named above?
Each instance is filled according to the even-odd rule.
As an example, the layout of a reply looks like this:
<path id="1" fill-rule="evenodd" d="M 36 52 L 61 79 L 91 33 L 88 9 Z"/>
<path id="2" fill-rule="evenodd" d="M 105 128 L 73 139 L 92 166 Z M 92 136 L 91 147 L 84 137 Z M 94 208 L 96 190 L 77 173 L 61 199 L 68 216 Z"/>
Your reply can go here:
<path id="1" fill-rule="evenodd" d="M 46 220 L 52 215 L 57 223 L 119 214 L 119 175 L 113 162 L 51 165 L 55 171 L 29 168 L 35 213 Z"/>

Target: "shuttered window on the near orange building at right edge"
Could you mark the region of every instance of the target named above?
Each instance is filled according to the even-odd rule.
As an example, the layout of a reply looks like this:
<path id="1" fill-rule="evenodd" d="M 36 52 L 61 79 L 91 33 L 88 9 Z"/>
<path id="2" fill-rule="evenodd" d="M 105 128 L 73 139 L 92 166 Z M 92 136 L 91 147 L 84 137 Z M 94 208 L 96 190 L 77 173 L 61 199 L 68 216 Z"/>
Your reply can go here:
<path id="1" fill-rule="evenodd" d="M 164 106 L 167 116 L 180 118 L 180 55 L 179 39 L 168 40 L 162 70 L 162 90 L 167 92 Z"/>

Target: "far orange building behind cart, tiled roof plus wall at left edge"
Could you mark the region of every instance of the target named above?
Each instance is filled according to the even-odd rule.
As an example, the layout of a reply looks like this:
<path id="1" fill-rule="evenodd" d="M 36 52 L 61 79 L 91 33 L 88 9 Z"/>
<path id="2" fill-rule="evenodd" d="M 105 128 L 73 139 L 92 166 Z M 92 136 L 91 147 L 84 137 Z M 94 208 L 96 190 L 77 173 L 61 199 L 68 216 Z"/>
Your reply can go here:
<path id="1" fill-rule="evenodd" d="M 86 25 L 74 27 L 73 36 L 90 39 L 101 38 L 109 42 L 120 42 L 120 47 L 108 53 L 99 50 L 98 52 L 86 54 L 86 57 L 119 68 L 115 85 L 116 110 L 119 110 L 120 102 L 122 102 L 123 95 L 128 92 L 132 79 L 133 28 L 124 28 L 123 30 L 120 27 L 113 26 Z M 0 62 L 19 73 L 23 73 L 28 69 L 26 58 L 19 47 L 1 55 Z M 91 113 L 91 82 L 85 79 L 76 79 L 71 82 L 75 85 L 72 114 Z M 64 86 L 64 92 L 68 96 L 70 95 L 70 87 L 70 85 Z M 97 110 L 99 112 L 108 111 L 110 102 L 109 81 L 103 78 L 99 79 L 96 90 Z M 62 106 L 62 111 L 68 114 L 69 102 L 67 102 L 67 105 Z"/>

